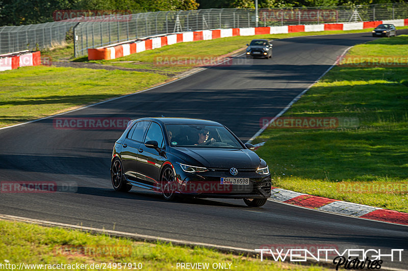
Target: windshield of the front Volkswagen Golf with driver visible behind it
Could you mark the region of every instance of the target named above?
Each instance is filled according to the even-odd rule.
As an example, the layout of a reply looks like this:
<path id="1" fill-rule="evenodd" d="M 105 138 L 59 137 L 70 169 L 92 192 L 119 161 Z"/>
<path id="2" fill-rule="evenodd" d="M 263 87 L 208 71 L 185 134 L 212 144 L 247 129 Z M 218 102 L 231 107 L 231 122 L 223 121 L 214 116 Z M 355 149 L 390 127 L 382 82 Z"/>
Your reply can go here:
<path id="1" fill-rule="evenodd" d="M 172 147 L 242 149 L 233 134 L 223 126 L 167 124 Z"/>

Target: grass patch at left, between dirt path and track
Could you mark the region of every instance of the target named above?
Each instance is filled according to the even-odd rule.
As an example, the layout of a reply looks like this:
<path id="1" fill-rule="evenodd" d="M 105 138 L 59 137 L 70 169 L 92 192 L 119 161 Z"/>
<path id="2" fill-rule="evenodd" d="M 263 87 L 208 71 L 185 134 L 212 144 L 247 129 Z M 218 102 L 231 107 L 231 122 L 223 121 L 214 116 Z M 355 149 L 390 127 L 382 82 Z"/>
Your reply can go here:
<path id="1" fill-rule="evenodd" d="M 0 73 L 0 127 L 134 93 L 166 80 L 147 72 L 23 67 Z"/>

